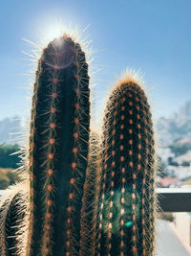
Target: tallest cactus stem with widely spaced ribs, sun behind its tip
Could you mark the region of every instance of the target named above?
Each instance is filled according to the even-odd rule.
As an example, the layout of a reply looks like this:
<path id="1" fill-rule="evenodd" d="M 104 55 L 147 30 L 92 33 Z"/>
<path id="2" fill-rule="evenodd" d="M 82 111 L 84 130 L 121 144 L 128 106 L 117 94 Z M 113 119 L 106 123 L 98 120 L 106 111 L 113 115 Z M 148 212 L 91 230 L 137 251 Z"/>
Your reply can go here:
<path id="1" fill-rule="evenodd" d="M 85 54 L 68 35 L 38 61 L 30 136 L 30 228 L 27 255 L 77 255 L 89 144 Z"/>

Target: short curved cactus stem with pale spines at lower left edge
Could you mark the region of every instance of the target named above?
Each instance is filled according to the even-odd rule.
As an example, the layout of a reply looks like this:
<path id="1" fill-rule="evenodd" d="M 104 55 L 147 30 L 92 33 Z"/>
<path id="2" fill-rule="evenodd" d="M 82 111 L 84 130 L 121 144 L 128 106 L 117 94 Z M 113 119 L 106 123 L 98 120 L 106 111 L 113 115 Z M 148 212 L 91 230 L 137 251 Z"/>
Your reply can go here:
<path id="1" fill-rule="evenodd" d="M 0 255 L 17 255 L 17 244 L 25 232 L 27 215 L 27 184 L 11 186 L 1 198 L 0 207 Z"/>

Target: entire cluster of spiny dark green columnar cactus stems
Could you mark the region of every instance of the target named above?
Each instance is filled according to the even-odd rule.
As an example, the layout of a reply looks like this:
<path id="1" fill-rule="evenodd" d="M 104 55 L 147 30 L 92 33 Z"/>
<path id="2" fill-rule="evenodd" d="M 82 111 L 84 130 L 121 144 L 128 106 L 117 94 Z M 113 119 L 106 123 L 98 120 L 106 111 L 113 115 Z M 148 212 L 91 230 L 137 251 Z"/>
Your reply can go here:
<path id="1" fill-rule="evenodd" d="M 0 208 L 2 256 L 153 255 L 155 143 L 141 82 L 127 74 L 113 89 L 101 153 L 89 98 L 85 53 L 69 35 L 53 39 L 33 86 L 30 192 Z"/>

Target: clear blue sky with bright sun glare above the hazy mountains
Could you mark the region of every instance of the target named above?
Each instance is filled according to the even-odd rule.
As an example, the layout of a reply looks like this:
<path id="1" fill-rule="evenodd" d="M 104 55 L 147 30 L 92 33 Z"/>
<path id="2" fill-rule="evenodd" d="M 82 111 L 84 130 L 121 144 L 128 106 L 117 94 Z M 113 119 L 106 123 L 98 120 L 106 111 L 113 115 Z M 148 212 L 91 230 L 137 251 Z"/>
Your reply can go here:
<path id="1" fill-rule="evenodd" d="M 0 11 L 0 120 L 24 115 L 30 69 L 21 38 L 39 41 L 40 32 L 61 18 L 64 24 L 91 24 L 92 46 L 98 51 L 93 65 L 96 105 L 102 106 L 106 88 L 126 67 L 140 69 L 156 116 L 168 116 L 191 100 L 190 0 L 11 0 Z M 43 30 L 46 33 L 46 30 Z M 104 95 L 104 96 L 103 96 Z M 99 111 L 97 111 L 99 112 Z"/>

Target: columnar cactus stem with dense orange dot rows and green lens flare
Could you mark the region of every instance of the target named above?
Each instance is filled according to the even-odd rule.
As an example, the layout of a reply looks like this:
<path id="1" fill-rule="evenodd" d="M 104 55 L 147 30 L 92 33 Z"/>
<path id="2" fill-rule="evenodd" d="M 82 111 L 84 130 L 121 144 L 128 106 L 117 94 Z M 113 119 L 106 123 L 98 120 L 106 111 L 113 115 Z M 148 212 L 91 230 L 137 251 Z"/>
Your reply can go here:
<path id="1" fill-rule="evenodd" d="M 153 255 L 153 124 L 142 87 L 128 75 L 106 106 L 101 168 L 98 255 Z"/>

